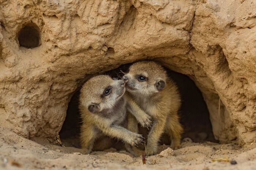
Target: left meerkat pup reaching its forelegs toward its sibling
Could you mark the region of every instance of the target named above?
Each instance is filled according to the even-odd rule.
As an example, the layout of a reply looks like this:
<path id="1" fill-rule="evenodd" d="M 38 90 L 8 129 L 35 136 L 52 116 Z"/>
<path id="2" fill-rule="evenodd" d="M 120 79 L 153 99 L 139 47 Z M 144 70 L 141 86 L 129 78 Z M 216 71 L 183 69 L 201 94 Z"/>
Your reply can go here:
<path id="1" fill-rule="evenodd" d="M 113 80 L 107 75 L 95 76 L 82 86 L 79 98 L 82 118 L 80 142 L 88 153 L 93 149 L 95 139 L 104 135 L 120 139 L 132 146 L 138 146 L 144 142 L 142 135 L 123 127 L 127 108 L 124 93 L 125 81 Z M 138 106 L 132 108 L 139 109 Z M 150 126 L 150 116 L 143 111 L 135 114 L 135 117 L 142 126 Z"/>

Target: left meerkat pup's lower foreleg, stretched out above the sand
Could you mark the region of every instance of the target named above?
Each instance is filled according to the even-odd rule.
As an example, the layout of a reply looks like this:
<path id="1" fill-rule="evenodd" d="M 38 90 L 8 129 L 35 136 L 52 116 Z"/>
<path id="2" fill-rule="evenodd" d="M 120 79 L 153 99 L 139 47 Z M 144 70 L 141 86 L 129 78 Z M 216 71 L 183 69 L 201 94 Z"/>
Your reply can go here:
<path id="1" fill-rule="evenodd" d="M 125 143 L 129 143 L 132 146 L 138 146 L 142 144 L 143 137 L 140 134 L 133 133 L 124 127 L 112 125 L 110 127 L 101 128 L 102 132 L 109 137 L 121 139 Z"/>

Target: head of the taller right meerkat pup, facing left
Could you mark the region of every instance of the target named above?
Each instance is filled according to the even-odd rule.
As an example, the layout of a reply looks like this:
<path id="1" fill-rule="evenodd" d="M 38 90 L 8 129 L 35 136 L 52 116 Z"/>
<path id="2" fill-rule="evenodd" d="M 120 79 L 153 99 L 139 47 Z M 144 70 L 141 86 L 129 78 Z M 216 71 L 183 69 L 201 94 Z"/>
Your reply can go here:
<path id="1" fill-rule="evenodd" d="M 129 67 L 123 77 L 126 90 L 138 95 L 152 95 L 165 87 L 167 74 L 162 66 L 152 61 L 141 61 Z"/>

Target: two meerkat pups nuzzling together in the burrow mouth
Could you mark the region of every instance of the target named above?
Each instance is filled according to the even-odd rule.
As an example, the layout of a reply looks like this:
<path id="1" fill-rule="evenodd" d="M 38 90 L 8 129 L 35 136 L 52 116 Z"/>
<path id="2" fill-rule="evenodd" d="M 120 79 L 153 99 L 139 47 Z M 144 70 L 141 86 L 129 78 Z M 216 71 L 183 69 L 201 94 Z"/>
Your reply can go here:
<path id="1" fill-rule="evenodd" d="M 108 136 L 120 139 L 127 151 L 138 156 L 143 151 L 136 147 L 144 142 L 138 134 L 139 123 L 142 127 L 151 127 L 147 155 L 157 153 L 163 133 L 170 136 L 171 147 L 176 149 L 182 134 L 177 114 L 180 105 L 176 84 L 155 62 L 132 64 L 122 80 L 95 76 L 84 83 L 80 94 L 82 147 L 90 153 L 97 138 Z"/>

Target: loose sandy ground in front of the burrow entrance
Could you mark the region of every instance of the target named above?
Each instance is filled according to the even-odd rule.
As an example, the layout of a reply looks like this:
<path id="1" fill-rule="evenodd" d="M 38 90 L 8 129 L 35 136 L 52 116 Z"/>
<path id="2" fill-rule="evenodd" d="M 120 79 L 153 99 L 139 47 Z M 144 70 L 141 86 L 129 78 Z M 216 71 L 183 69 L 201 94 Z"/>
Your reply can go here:
<path id="1" fill-rule="evenodd" d="M 235 144 L 183 142 L 174 151 L 162 145 L 159 151 L 163 152 L 147 157 L 143 165 L 142 157 L 133 158 L 125 151 L 109 149 L 88 155 L 82 149 L 36 140 L 39 143 L 0 127 L 0 169 L 256 169 L 256 143 L 242 148 Z M 229 161 L 212 161 L 218 158 Z"/>

